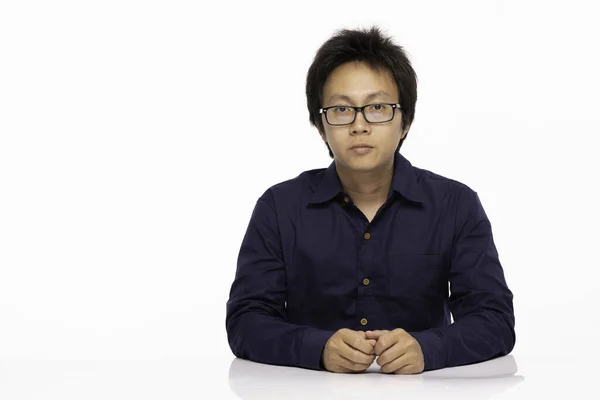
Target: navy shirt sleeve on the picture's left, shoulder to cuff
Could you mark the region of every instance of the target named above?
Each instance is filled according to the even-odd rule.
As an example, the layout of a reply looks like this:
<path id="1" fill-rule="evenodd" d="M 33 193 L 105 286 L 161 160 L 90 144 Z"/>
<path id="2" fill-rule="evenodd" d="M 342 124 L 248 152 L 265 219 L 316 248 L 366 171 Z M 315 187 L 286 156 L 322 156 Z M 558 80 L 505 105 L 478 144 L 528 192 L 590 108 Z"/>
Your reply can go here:
<path id="1" fill-rule="evenodd" d="M 322 370 L 334 331 L 290 323 L 286 272 L 277 216 L 267 191 L 256 203 L 238 255 L 227 301 L 226 329 L 236 357 Z"/>

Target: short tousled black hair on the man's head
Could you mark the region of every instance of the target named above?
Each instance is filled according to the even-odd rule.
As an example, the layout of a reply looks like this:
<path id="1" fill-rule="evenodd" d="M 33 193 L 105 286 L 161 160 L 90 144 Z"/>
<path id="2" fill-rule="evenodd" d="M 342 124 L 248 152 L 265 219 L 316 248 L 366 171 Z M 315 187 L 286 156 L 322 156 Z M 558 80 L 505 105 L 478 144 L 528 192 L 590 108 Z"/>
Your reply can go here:
<path id="1" fill-rule="evenodd" d="M 376 71 L 387 70 L 392 74 L 400 95 L 402 126 L 410 128 L 417 103 L 417 75 L 405 50 L 390 37 L 384 36 L 376 26 L 369 29 L 341 29 L 317 50 L 306 77 L 310 124 L 320 133 L 325 133 L 319 114 L 319 108 L 323 107 L 323 86 L 336 67 L 353 61 L 364 62 Z M 400 140 L 396 152 L 407 136 Z M 329 144 L 326 145 L 329 156 L 333 158 Z"/>

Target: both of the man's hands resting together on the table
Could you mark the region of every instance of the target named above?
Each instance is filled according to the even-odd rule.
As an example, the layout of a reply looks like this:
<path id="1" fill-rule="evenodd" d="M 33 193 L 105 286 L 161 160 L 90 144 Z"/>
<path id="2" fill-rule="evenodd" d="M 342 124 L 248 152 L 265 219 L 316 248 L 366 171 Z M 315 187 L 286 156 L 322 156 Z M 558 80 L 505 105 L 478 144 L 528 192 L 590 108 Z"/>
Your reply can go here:
<path id="1" fill-rule="evenodd" d="M 331 372 L 364 372 L 375 358 L 383 373 L 418 374 L 425 367 L 421 346 L 400 328 L 366 332 L 340 329 L 323 350 L 323 365 Z"/>

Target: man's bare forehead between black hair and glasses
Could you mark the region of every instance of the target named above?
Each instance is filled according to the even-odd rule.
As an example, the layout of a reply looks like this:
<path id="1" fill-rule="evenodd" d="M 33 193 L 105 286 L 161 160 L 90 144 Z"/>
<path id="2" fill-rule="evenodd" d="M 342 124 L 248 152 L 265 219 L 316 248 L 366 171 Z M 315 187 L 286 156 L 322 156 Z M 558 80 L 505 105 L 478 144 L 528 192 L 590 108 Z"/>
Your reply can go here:
<path id="1" fill-rule="evenodd" d="M 335 68 L 327 77 L 323 86 L 323 101 L 325 103 L 342 95 L 357 102 L 375 92 L 390 101 L 398 100 L 398 88 L 392 74 L 388 70 L 375 70 L 362 62 L 345 63 Z"/>

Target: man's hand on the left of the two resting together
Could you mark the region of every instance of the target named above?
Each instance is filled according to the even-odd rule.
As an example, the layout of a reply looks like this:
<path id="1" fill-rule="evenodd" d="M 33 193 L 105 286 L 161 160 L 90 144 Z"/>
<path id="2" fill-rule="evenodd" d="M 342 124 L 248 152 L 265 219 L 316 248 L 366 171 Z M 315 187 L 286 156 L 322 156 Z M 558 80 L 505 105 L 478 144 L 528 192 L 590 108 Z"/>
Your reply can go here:
<path id="1" fill-rule="evenodd" d="M 323 365 L 331 372 L 364 372 L 375 361 L 375 343 L 365 332 L 340 329 L 325 344 Z"/>

